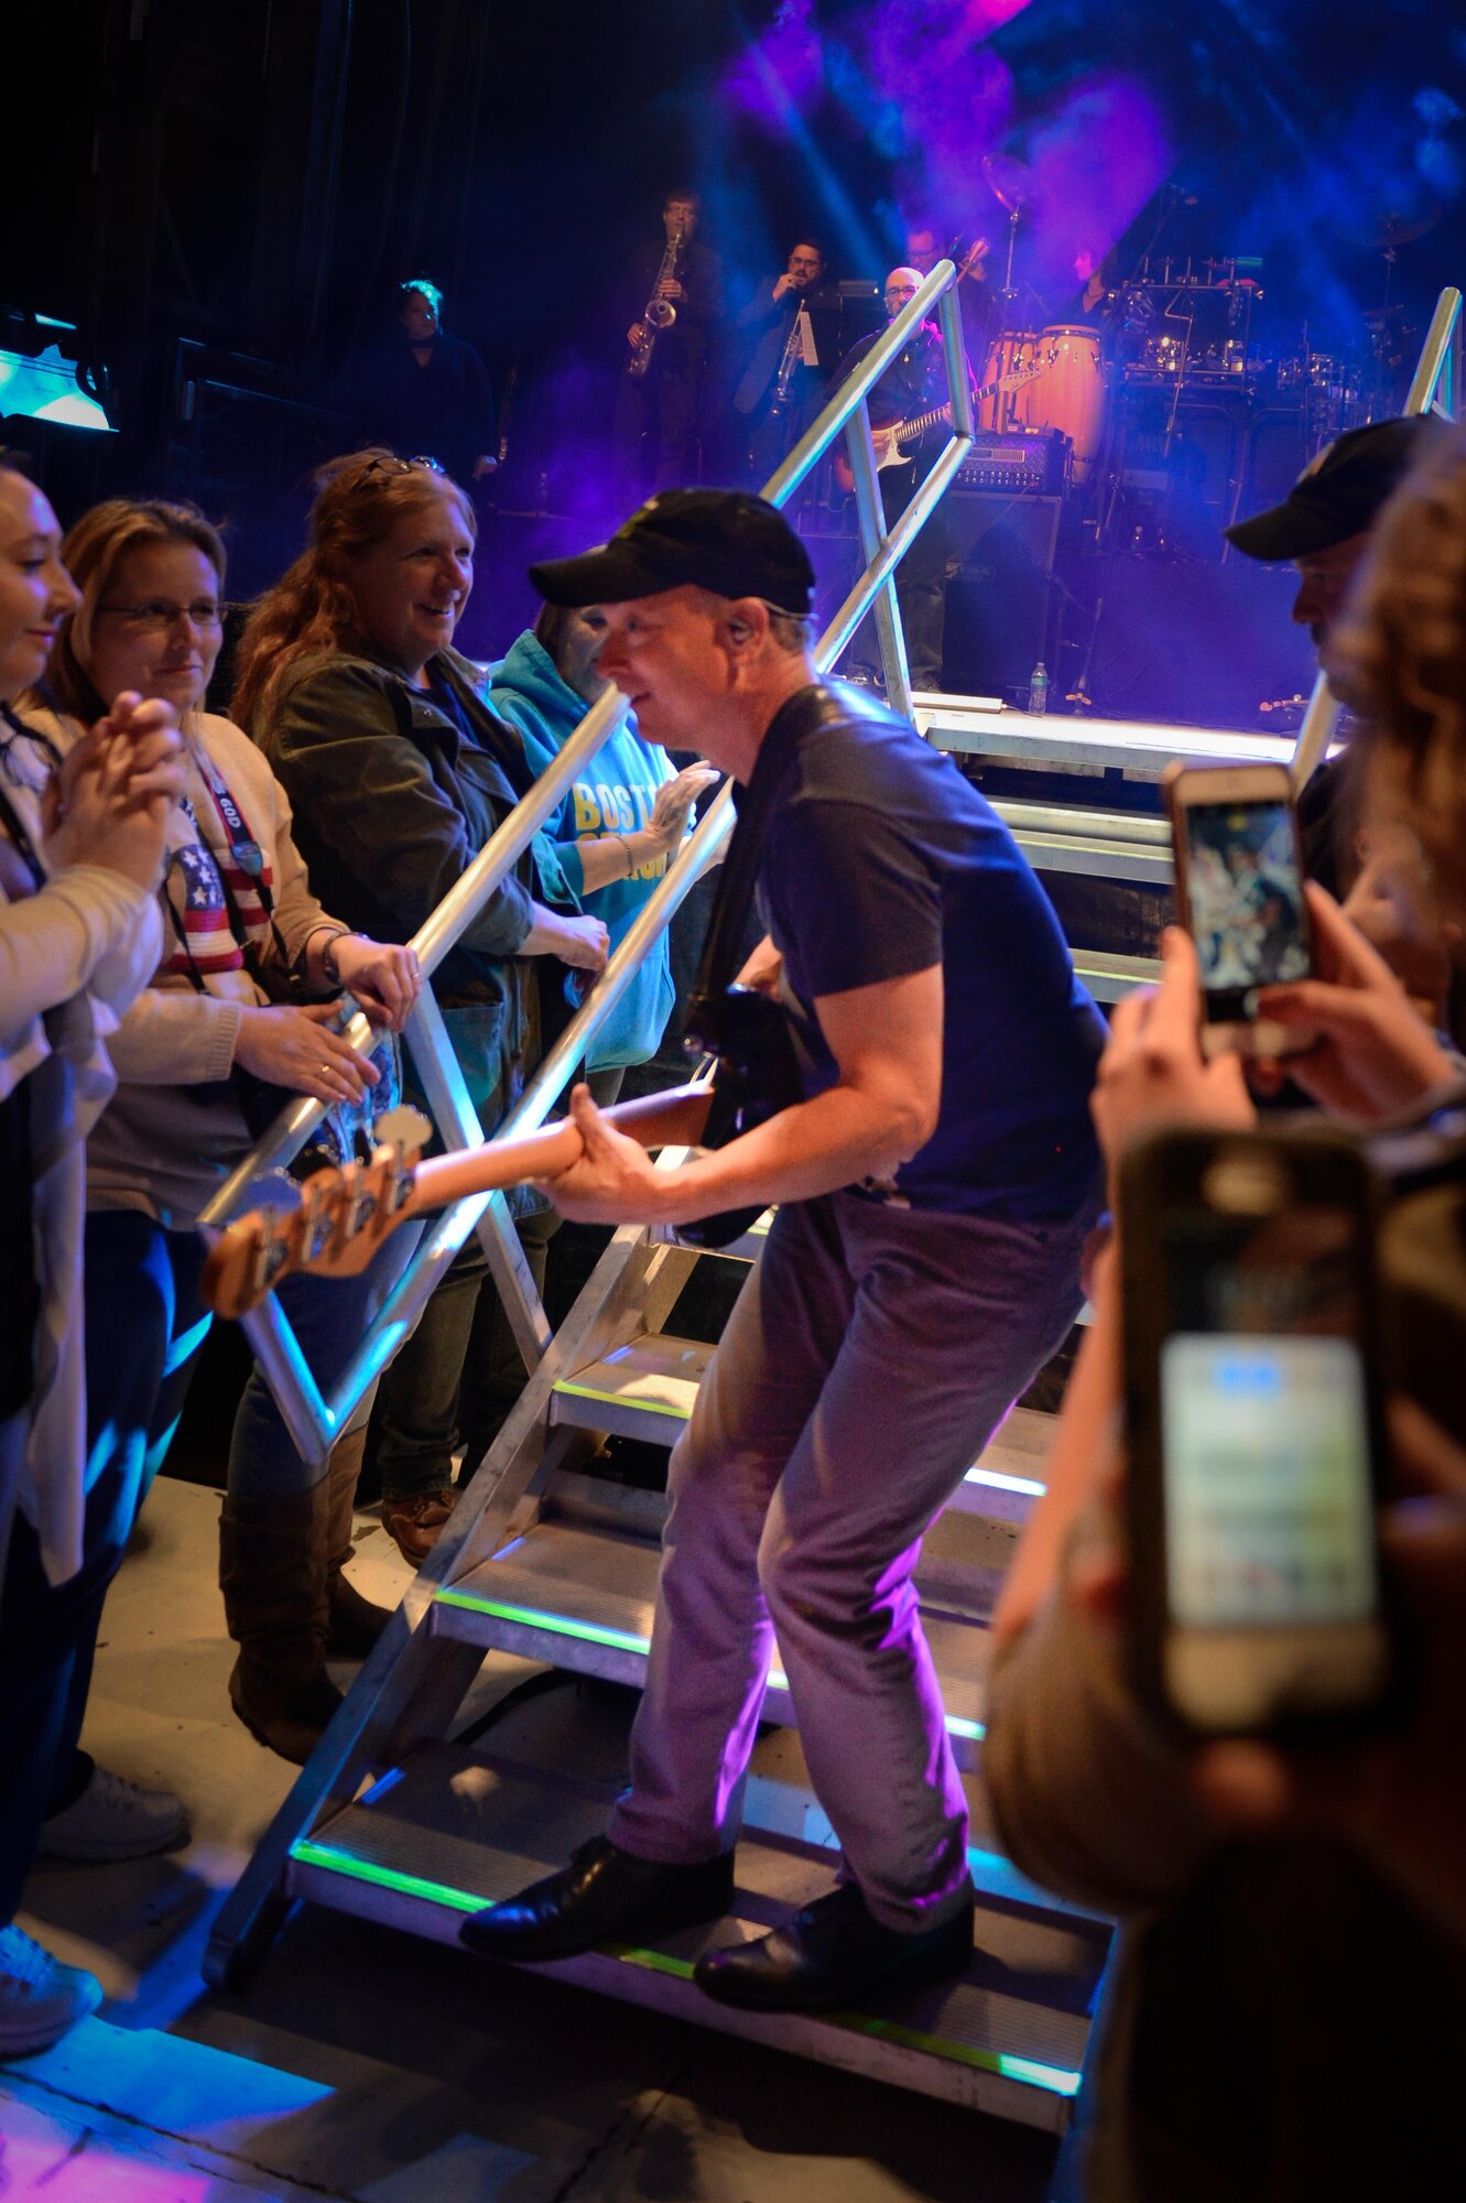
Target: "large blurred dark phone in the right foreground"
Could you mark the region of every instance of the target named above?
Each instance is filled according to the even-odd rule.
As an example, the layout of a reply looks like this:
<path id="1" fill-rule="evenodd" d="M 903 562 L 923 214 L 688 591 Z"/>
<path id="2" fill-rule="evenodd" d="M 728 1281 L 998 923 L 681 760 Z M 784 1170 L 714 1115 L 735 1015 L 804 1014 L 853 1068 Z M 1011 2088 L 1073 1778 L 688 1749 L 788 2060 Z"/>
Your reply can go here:
<path id="1" fill-rule="evenodd" d="M 1134 1674 L 1191 1736 L 1391 1701 L 1374 1205 L 1363 1152 L 1316 1128 L 1125 1157 Z"/>

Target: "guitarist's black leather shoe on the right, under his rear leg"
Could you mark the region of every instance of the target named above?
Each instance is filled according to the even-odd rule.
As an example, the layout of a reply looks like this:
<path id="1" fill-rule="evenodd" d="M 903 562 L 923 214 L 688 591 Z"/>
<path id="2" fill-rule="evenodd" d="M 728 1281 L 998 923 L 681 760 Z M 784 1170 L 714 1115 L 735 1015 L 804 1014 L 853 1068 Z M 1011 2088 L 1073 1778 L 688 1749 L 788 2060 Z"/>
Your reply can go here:
<path id="1" fill-rule="evenodd" d="M 973 1956 L 973 1901 L 955 1919 L 918 1934 L 885 1928 L 854 1881 L 797 1912 L 757 1943 L 709 1950 L 693 1980 L 720 2005 L 748 2011 L 821 2011 L 852 2005 L 874 1987 L 916 1987 L 960 1974 Z"/>

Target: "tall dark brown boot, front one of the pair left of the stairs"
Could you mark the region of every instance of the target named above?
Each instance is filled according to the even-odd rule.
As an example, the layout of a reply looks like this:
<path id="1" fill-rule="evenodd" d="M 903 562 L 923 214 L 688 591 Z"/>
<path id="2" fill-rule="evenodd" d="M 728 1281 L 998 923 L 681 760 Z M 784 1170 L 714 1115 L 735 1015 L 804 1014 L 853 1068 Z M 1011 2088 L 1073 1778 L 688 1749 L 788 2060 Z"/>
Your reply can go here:
<path id="1" fill-rule="evenodd" d="M 341 1705 L 326 1674 L 326 1529 L 330 1494 L 225 1494 L 218 1586 L 240 1648 L 229 1703 L 249 1734 L 304 1767 Z"/>

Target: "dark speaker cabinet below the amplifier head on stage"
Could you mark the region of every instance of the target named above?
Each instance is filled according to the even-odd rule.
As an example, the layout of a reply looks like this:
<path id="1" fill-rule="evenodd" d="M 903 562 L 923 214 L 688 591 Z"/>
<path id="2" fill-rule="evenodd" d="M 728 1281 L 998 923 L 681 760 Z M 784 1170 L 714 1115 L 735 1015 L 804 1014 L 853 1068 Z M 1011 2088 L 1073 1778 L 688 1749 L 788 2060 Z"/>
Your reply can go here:
<path id="1" fill-rule="evenodd" d="M 960 560 L 947 590 L 942 648 L 942 687 L 951 694 L 1028 694 L 1037 659 L 1048 663 L 1061 507 L 1061 498 L 951 493 L 951 544 Z"/>

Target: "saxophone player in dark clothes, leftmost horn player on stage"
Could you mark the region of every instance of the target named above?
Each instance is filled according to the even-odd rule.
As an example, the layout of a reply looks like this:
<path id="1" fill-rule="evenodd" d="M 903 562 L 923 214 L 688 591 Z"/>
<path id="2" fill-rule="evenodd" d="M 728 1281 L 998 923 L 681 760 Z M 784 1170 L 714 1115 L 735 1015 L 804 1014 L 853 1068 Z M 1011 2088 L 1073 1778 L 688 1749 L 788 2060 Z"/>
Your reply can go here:
<path id="1" fill-rule="evenodd" d="M 660 242 L 647 242 L 632 278 L 612 443 L 621 489 L 634 502 L 698 474 L 702 386 L 722 313 L 722 267 L 698 238 L 698 211 L 696 192 L 669 192 Z"/>

